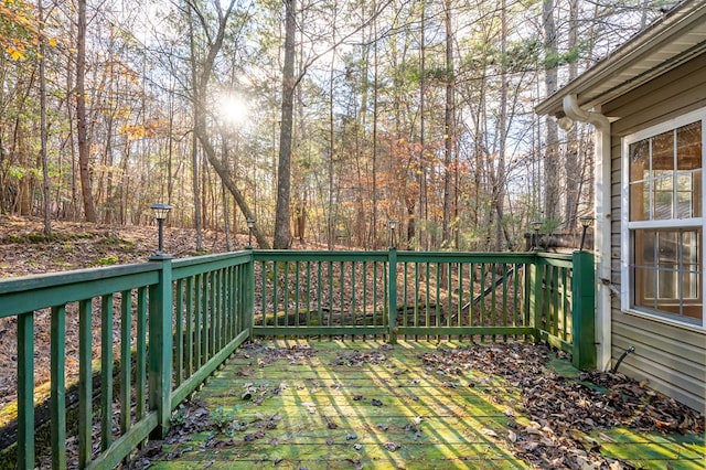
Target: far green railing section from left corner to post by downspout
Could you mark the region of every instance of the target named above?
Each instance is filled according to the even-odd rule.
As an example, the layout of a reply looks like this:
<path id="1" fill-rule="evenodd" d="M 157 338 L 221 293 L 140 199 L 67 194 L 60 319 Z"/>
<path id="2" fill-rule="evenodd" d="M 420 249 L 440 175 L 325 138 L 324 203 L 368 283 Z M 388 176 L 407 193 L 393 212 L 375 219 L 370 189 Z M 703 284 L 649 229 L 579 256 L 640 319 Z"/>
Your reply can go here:
<path id="1" fill-rule="evenodd" d="M 586 252 L 267 250 L 255 252 L 255 335 L 532 337 L 571 353 L 581 368 L 595 366 Z"/>

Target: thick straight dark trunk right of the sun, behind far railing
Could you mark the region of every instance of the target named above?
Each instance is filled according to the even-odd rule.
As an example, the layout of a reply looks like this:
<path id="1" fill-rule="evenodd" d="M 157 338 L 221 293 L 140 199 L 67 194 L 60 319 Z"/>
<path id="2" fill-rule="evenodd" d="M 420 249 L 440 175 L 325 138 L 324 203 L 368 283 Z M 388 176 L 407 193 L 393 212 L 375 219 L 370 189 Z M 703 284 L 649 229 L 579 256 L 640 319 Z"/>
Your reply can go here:
<path id="1" fill-rule="evenodd" d="M 285 66 L 282 70 L 281 128 L 279 131 L 279 162 L 277 165 L 277 206 L 275 213 L 275 249 L 289 248 L 289 201 L 291 192 L 291 142 L 295 97 L 295 33 L 297 0 L 285 0 Z"/>

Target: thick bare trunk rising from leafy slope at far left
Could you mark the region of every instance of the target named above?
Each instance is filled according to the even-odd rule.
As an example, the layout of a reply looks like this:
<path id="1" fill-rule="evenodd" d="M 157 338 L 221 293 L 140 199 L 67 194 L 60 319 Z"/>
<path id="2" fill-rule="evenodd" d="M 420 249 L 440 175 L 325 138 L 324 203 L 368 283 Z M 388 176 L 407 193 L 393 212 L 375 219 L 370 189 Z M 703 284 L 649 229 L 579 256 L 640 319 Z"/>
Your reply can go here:
<path id="1" fill-rule="evenodd" d="M 90 184 L 90 142 L 86 122 L 86 0 L 78 0 L 78 34 L 76 36 L 76 132 L 78 136 L 78 171 L 87 222 L 97 222 Z"/>

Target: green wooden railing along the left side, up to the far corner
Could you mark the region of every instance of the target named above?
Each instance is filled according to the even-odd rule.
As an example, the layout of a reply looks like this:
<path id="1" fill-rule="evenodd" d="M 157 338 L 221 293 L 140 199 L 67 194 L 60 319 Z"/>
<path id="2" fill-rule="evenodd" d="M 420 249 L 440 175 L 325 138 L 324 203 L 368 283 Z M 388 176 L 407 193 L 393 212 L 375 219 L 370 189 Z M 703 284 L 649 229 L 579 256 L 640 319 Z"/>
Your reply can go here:
<path id="1" fill-rule="evenodd" d="M 114 468 L 148 437 L 163 437 L 172 409 L 248 338 L 252 268 L 252 255 L 239 253 L 1 281 L 0 318 L 17 317 L 18 325 L 18 417 L 17 460 L 0 467 L 40 463 L 39 348 L 51 349 L 52 468 L 67 466 L 67 417 L 76 414 L 79 468 Z M 34 331 L 44 314 L 49 339 Z M 78 329 L 78 344 L 66 344 L 68 324 Z M 67 362 L 78 363 L 77 375 L 66 376 Z M 78 406 L 68 413 L 72 386 Z"/>

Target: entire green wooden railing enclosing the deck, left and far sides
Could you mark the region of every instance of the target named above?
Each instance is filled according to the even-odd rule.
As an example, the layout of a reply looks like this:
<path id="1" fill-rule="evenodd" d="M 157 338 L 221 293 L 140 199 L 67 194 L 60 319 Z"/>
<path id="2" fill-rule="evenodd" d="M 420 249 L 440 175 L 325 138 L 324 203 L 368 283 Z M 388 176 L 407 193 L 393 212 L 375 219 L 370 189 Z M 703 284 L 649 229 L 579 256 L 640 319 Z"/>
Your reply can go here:
<path id="1" fill-rule="evenodd" d="M 588 368 L 592 292 L 592 256 L 582 252 L 246 250 L 0 281 L 0 319 L 17 319 L 17 467 L 42 459 L 38 348 L 51 350 L 52 468 L 66 468 L 71 434 L 79 468 L 114 468 L 163 437 L 172 410 L 252 335 L 532 339 Z M 51 317 L 49 344 L 35 332 L 41 316 Z M 77 344 L 66 343 L 68 328 Z"/>

